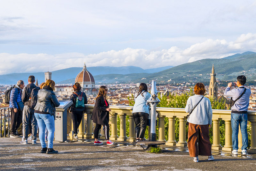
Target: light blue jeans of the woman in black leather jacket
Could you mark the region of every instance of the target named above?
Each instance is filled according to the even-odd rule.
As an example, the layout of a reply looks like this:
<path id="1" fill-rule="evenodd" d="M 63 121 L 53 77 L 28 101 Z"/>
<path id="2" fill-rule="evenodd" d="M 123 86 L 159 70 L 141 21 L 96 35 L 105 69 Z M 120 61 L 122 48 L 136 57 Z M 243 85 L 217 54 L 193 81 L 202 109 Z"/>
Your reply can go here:
<path id="1" fill-rule="evenodd" d="M 45 128 L 48 130 L 48 148 L 53 147 L 53 138 L 54 138 L 54 131 L 55 131 L 55 125 L 54 125 L 54 117 L 50 114 L 40 114 L 35 113 L 37 124 L 39 127 L 39 139 L 42 145 L 42 148 L 46 147 L 45 144 Z"/>

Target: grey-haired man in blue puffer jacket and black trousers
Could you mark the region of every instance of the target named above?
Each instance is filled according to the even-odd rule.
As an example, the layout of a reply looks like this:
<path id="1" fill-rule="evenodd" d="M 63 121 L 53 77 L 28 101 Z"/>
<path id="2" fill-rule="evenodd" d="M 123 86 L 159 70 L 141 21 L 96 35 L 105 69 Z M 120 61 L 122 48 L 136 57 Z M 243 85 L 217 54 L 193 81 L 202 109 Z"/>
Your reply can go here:
<path id="1" fill-rule="evenodd" d="M 24 81 L 19 80 L 17 85 L 14 85 L 10 92 L 10 109 L 11 109 L 11 127 L 10 127 L 10 137 L 18 138 L 20 135 L 16 134 L 16 131 L 22 123 L 22 109 L 23 103 L 21 101 L 21 94 L 24 88 Z M 8 90 L 7 90 L 8 91 Z M 9 95 L 8 95 L 9 96 Z"/>

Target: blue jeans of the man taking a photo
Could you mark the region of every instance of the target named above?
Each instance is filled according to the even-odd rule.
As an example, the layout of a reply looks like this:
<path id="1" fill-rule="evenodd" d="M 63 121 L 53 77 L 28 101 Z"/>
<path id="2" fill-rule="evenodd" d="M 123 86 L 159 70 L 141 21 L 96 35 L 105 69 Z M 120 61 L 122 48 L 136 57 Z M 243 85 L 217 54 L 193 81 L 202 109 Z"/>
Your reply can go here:
<path id="1" fill-rule="evenodd" d="M 242 133 L 242 150 L 246 150 L 248 147 L 248 134 L 247 134 L 247 114 L 231 113 L 231 126 L 232 126 L 232 146 L 233 150 L 238 149 L 238 131 L 239 125 Z"/>

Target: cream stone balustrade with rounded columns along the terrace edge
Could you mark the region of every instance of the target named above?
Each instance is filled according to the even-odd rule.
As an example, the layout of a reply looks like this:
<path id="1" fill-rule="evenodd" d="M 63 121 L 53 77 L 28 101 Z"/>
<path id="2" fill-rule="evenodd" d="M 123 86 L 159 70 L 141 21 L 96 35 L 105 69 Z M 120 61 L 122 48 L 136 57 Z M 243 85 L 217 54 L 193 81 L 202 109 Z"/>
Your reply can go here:
<path id="1" fill-rule="evenodd" d="M 87 115 L 87 125 L 86 125 L 86 138 L 93 138 L 92 132 L 92 110 L 94 105 L 85 105 Z M 110 106 L 111 108 L 111 136 L 109 139 L 117 141 L 135 141 L 135 123 L 132 116 L 132 106 Z M 176 145 L 185 147 L 187 146 L 186 141 L 186 116 L 184 108 L 156 108 L 159 120 L 158 129 L 158 140 L 166 141 L 164 136 L 164 118 L 168 118 L 169 128 L 168 128 L 168 140 L 165 145 Z M 212 127 L 213 127 L 213 144 L 212 150 L 225 150 L 232 151 L 232 129 L 230 121 L 231 110 L 212 110 Z M 120 136 L 117 135 L 117 115 L 120 116 Z M 129 116 L 129 125 L 126 125 L 126 116 Z M 179 141 L 175 140 L 175 118 L 179 118 Z M 220 145 L 220 119 L 225 121 L 225 145 L 222 147 Z M 256 153 L 256 111 L 248 111 L 248 121 L 251 122 L 251 147 L 248 152 Z M 81 125 L 82 127 L 82 125 Z M 126 127 L 129 127 L 129 137 L 126 136 Z M 79 127 L 80 128 L 80 127 Z M 148 128 L 150 132 L 150 127 Z M 79 129 L 80 130 L 80 129 Z M 79 131 L 80 132 L 80 131 Z M 83 130 L 82 130 L 83 132 Z M 242 135 L 241 132 L 238 135 L 239 147 L 242 146 Z M 240 149 L 241 150 L 241 149 Z"/>

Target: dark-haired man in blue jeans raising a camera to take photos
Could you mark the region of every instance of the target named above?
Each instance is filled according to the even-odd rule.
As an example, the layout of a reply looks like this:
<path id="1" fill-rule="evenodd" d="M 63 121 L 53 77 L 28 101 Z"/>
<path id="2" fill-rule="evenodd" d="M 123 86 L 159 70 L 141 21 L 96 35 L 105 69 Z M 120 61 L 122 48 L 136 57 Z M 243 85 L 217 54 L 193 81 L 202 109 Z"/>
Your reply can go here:
<path id="1" fill-rule="evenodd" d="M 244 75 L 240 75 L 237 78 L 237 82 L 234 82 L 234 86 L 238 86 L 238 88 L 234 88 L 230 90 L 232 87 L 232 83 L 228 83 L 228 87 L 224 91 L 224 95 L 227 97 L 232 97 L 232 100 L 236 100 L 245 90 L 244 94 L 235 102 L 235 104 L 231 107 L 231 126 L 232 126 L 232 144 L 233 151 L 232 153 L 237 155 L 238 150 L 238 131 L 239 125 L 242 133 L 242 154 L 246 155 L 246 150 L 248 147 L 248 134 L 247 134 L 247 110 L 249 106 L 249 97 L 251 95 L 251 90 L 249 88 L 245 88 L 244 84 L 246 83 L 246 77 Z"/>

